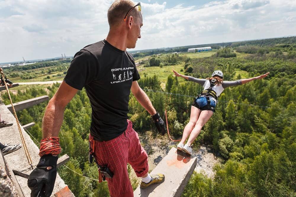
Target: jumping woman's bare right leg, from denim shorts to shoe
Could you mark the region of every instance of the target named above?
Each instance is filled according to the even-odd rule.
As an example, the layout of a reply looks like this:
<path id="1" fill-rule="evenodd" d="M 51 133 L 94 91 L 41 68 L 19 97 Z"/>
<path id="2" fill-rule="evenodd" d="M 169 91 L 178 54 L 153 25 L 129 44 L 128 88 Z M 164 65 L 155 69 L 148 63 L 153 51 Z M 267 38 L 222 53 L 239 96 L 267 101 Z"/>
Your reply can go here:
<path id="1" fill-rule="evenodd" d="M 189 139 L 186 143 L 188 146 L 190 146 L 195 138 L 197 138 L 197 136 L 200 134 L 200 131 L 202 130 L 202 127 L 205 125 L 205 123 L 207 123 L 213 113 L 214 112 L 211 110 L 203 110 L 200 112 L 200 117 L 198 118 L 195 127 L 190 133 Z"/>

